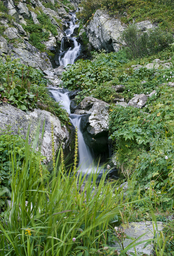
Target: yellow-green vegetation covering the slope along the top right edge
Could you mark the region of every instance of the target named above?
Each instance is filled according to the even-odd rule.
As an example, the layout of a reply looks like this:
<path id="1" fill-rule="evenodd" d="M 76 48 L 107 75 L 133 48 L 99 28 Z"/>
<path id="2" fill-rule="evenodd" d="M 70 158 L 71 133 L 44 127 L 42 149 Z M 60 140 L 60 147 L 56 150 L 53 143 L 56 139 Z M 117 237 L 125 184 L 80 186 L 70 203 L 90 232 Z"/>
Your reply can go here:
<path id="1" fill-rule="evenodd" d="M 78 18 L 84 22 L 92 18 L 97 9 L 107 9 L 111 15 L 121 18 L 124 23 L 143 20 L 157 22 L 161 28 L 174 31 L 174 2 L 172 0 L 82 0 L 83 9 Z M 124 12 L 127 13 L 125 16 Z"/>

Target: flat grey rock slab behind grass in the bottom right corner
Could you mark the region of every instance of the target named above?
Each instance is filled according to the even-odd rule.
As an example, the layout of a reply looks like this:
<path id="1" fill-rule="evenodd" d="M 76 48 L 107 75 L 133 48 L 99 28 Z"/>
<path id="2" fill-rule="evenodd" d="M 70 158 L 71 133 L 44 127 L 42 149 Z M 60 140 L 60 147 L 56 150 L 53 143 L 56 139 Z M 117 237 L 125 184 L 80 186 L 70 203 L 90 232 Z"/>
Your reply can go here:
<path id="1" fill-rule="evenodd" d="M 138 242 L 154 238 L 154 229 L 153 229 L 153 222 L 152 221 L 131 222 L 131 223 L 129 223 L 129 228 L 127 228 L 127 226 L 124 225 L 124 224 L 122 224 L 121 226 L 124 228 L 124 231 L 125 231 L 126 235 L 131 236 L 135 239 L 137 239 L 142 234 L 146 233 L 144 236 L 142 236 L 138 240 Z M 155 224 L 154 224 L 154 226 L 155 226 Z M 163 223 L 161 221 L 157 221 L 157 230 L 161 231 L 162 229 L 163 229 Z M 156 230 L 156 228 L 155 228 L 155 230 Z M 126 238 L 124 240 L 124 243 L 123 243 L 124 248 L 126 248 L 126 246 L 128 246 L 131 243 L 132 243 L 132 240 Z M 138 244 L 137 246 L 135 246 L 137 255 L 150 256 L 150 255 L 153 254 L 154 244 L 153 243 L 148 244 L 144 248 L 145 244 L 146 244 L 146 242 L 142 243 L 142 244 Z M 113 247 L 118 248 L 118 251 L 120 251 L 120 245 L 118 244 L 118 242 L 115 242 L 115 245 Z M 128 253 L 131 253 L 131 252 L 135 253 L 134 248 L 131 248 L 128 251 Z"/>

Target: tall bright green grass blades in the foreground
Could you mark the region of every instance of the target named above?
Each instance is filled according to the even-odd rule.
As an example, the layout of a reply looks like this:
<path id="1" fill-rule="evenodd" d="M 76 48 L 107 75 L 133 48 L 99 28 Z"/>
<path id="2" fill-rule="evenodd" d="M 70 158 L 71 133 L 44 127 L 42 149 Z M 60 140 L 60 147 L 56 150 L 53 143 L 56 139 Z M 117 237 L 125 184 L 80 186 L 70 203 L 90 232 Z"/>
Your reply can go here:
<path id="1" fill-rule="evenodd" d="M 33 145 L 36 144 L 37 140 Z M 75 166 L 74 172 L 67 171 L 61 149 L 57 160 L 53 156 L 53 170 L 48 175 L 40 161 L 33 161 L 35 149 L 28 147 L 26 140 L 23 157 L 19 159 L 15 151 L 10 154 L 12 149 L 8 152 L 13 205 L 0 217 L 1 255 L 118 255 L 110 243 L 122 243 L 126 236 L 119 230 L 120 237 L 114 228 L 123 221 L 121 212 L 126 216 L 136 201 L 131 196 L 123 199 L 123 190 L 116 189 L 116 182 L 106 181 L 107 173 L 97 181 L 97 172 L 82 176 Z M 77 154 L 77 143 L 75 150 Z M 161 233 L 155 239 L 161 246 L 162 236 Z M 123 255 L 128 255 L 126 252 L 138 239 L 120 249 Z"/>

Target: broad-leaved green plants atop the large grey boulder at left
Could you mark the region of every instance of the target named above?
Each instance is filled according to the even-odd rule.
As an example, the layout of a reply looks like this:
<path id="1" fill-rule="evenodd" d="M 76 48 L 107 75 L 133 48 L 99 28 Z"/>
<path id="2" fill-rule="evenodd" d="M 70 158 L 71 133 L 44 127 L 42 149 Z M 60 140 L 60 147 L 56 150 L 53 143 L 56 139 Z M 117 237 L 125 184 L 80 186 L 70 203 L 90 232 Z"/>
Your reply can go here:
<path id="1" fill-rule="evenodd" d="M 19 60 L 6 57 L 6 62 L 0 60 L 0 103 L 14 104 L 17 108 L 28 110 L 40 107 L 67 122 L 66 110 L 61 108 L 47 93 L 47 80 L 36 68 L 25 66 Z"/>

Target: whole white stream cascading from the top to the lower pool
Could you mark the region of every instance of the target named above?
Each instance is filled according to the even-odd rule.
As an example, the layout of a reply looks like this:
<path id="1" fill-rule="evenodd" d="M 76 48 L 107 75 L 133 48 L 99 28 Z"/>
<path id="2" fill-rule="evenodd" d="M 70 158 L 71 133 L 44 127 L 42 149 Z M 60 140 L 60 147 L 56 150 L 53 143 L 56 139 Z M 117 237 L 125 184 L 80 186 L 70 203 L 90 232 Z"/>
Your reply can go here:
<path id="1" fill-rule="evenodd" d="M 69 28 L 66 29 L 65 33 L 66 36 L 70 38 L 71 41 L 73 41 L 74 46 L 70 47 L 68 50 L 64 49 L 64 39 L 61 40 L 61 47 L 60 47 L 60 54 L 59 54 L 59 64 L 64 65 L 65 67 L 68 64 L 74 64 L 76 58 L 80 54 L 80 47 L 81 45 L 76 41 L 76 37 L 74 36 L 74 30 L 75 28 L 78 28 L 79 25 L 75 24 L 76 15 L 75 13 L 72 13 L 72 20 L 67 21 L 67 24 L 69 25 Z M 77 135 L 78 135 L 78 168 L 83 173 L 90 173 L 90 172 L 100 172 L 101 175 L 103 171 L 108 171 L 107 169 L 104 169 L 103 165 L 100 165 L 97 167 L 98 163 L 95 163 L 94 157 L 91 153 L 91 149 L 85 144 L 83 134 L 80 130 L 80 122 L 84 115 L 75 115 L 71 114 L 70 112 L 70 103 L 71 100 L 68 97 L 68 90 L 67 89 L 58 89 L 58 90 L 50 90 L 52 98 L 60 102 L 60 104 L 63 106 L 64 109 L 66 109 L 67 113 L 69 114 L 69 120 L 73 124 L 73 126 L 77 127 Z M 111 156 L 111 148 L 109 146 L 109 156 Z M 99 176 L 101 176 L 99 174 Z"/>

